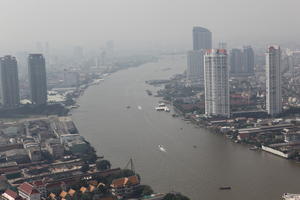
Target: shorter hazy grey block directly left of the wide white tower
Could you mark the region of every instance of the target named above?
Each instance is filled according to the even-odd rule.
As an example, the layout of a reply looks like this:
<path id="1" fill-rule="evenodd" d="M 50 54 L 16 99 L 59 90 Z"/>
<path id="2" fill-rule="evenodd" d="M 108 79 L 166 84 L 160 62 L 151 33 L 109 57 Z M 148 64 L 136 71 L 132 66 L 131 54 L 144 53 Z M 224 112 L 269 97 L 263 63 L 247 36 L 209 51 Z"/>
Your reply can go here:
<path id="1" fill-rule="evenodd" d="M 204 85 L 204 50 L 187 53 L 187 81 L 189 85 Z"/>

